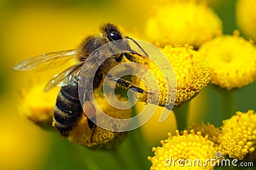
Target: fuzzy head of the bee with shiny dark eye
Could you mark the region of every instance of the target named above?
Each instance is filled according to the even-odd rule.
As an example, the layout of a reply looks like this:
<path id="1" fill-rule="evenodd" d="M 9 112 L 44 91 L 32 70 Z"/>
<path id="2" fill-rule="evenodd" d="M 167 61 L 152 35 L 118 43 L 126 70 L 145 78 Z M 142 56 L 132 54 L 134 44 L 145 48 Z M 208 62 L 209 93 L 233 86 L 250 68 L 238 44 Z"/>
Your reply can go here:
<path id="1" fill-rule="evenodd" d="M 109 41 L 116 41 L 116 40 L 120 40 L 123 39 L 123 36 L 121 34 L 121 32 L 119 31 L 118 27 L 114 24 L 103 24 L 100 27 L 102 33 L 104 34 L 104 36 L 106 36 Z"/>

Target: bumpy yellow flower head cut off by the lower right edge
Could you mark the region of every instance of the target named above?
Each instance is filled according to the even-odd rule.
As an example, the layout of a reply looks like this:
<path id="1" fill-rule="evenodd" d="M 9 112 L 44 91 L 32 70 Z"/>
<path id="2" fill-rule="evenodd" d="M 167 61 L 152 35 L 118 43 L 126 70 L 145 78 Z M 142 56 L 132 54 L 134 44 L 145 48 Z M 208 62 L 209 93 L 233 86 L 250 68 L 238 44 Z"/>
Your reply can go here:
<path id="1" fill-rule="evenodd" d="M 220 151 L 223 155 L 242 160 L 256 148 L 256 114 L 237 111 L 236 115 L 223 121 L 220 136 Z"/>

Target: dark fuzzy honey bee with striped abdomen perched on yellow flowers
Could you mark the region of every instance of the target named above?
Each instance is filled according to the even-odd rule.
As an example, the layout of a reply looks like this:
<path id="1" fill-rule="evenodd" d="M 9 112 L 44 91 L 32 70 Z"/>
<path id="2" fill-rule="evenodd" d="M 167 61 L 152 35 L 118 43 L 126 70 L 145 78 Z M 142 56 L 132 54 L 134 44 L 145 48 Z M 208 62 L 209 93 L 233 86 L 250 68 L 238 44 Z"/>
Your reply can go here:
<path id="1" fill-rule="evenodd" d="M 83 116 L 83 106 L 79 101 L 79 73 L 81 71 L 81 67 L 84 62 L 87 62 L 88 56 L 97 48 L 102 45 L 105 45 L 111 41 L 117 41 L 120 39 L 131 39 L 133 43 L 135 43 L 141 51 L 145 54 L 145 57 L 148 57 L 147 53 L 141 46 L 131 37 L 124 36 L 118 27 L 114 24 L 102 24 L 100 26 L 101 34 L 99 36 L 87 36 L 81 43 L 81 45 L 76 50 L 65 50 L 61 52 L 52 52 L 52 53 L 44 53 L 42 55 L 38 55 L 36 57 L 31 57 L 29 59 L 22 60 L 13 67 L 15 71 L 27 71 L 30 69 L 35 69 L 36 67 L 42 64 L 48 64 L 52 62 L 57 62 L 60 60 L 67 59 L 76 59 L 77 63 L 71 67 L 68 67 L 65 71 L 60 74 L 56 74 L 52 80 L 50 80 L 45 86 L 45 91 L 50 90 L 54 86 L 60 86 L 60 92 L 58 93 L 56 104 L 54 106 L 54 127 L 60 132 L 60 134 L 64 137 L 67 137 L 69 132 L 76 126 L 78 120 Z M 102 80 L 106 77 L 106 74 L 109 70 L 123 61 L 123 58 L 130 60 L 131 62 L 135 62 L 133 54 L 134 52 L 129 43 L 126 44 L 127 48 L 129 48 L 130 52 L 122 52 L 118 53 L 114 56 L 108 57 L 108 59 L 104 60 L 102 64 L 97 68 L 96 73 L 90 74 L 90 68 L 88 68 L 86 74 L 86 79 L 93 79 L 93 89 L 100 88 L 100 84 Z M 118 48 L 118 46 L 113 46 L 113 48 Z M 139 54 L 142 57 L 142 55 Z M 87 66 L 93 66 L 93 63 L 97 62 L 97 57 L 93 60 L 88 61 Z M 136 87 L 132 85 L 130 81 L 124 80 L 122 78 L 116 78 L 113 76 L 108 76 L 110 81 L 115 82 L 116 84 L 124 87 L 125 89 L 131 89 L 136 92 L 144 93 L 145 90 L 140 87 Z M 92 94 L 89 91 L 90 89 L 85 89 L 86 94 Z M 146 92 L 147 93 L 147 92 Z M 86 101 L 86 105 L 88 107 L 92 106 L 90 101 L 90 97 L 86 96 L 84 101 Z M 89 109 L 90 111 L 90 109 Z M 95 128 L 95 124 L 93 123 L 93 119 L 95 119 L 94 113 L 86 113 L 88 126 L 90 129 Z M 88 117 L 90 115 L 90 117 Z"/>

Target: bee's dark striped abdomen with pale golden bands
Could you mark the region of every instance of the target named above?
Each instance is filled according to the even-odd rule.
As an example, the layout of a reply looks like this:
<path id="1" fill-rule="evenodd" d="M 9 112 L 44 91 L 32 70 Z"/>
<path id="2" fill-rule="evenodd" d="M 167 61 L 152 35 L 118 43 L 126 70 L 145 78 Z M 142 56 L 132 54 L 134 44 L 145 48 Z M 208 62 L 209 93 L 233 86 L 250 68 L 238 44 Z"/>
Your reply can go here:
<path id="1" fill-rule="evenodd" d="M 77 124 L 77 120 L 83 115 L 83 108 L 79 101 L 77 83 L 61 87 L 54 106 L 54 126 L 62 136 L 68 133 Z"/>

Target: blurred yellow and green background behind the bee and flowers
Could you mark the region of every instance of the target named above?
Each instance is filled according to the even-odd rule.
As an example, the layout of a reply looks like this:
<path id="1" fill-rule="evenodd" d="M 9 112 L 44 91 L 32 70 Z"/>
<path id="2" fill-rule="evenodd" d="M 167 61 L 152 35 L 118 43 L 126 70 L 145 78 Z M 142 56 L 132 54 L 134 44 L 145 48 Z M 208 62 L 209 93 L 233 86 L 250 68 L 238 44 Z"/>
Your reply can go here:
<path id="1" fill-rule="evenodd" d="M 236 1 L 216 0 L 209 4 L 223 21 L 223 32 L 232 34 L 237 29 Z M 12 67 L 40 53 L 76 48 L 85 36 L 95 33 L 106 22 L 120 25 L 127 35 L 141 39 L 155 5 L 156 1 L 152 0 L 0 1 L 0 169 L 120 169 L 108 153 L 69 143 L 56 132 L 44 131 L 20 117 L 17 113 L 20 88 L 28 86 L 29 77 L 44 73 L 17 73 Z M 236 110 L 256 110 L 255 87 L 256 83 L 252 83 L 237 90 Z M 220 96 L 206 87 L 191 102 L 190 112 L 189 122 L 204 120 L 221 125 Z M 159 141 L 167 138 L 166 133 L 176 128 L 173 115 L 164 124 L 158 124 L 157 119 L 141 128 L 143 136 L 133 136 L 137 138 L 134 142 L 145 138 L 145 143 L 141 143 L 145 162 L 141 164 L 146 164 L 148 169 L 147 156 L 153 155 L 152 146 L 159 146 Z M 129 148 L 130 144 L 124 141 L 123 153 L 134 149 Z M 132 164 L 129 156 L 127 162 Z"/>

